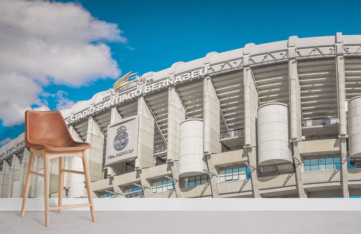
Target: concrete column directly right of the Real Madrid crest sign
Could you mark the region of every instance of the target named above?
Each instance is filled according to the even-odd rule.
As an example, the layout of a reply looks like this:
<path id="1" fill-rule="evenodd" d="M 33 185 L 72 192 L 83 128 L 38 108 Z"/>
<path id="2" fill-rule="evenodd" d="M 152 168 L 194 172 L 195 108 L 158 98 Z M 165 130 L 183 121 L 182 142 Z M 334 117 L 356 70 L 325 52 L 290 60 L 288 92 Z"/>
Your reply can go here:
<path id="1" fill-rule="evenodd" d="M 135 168 L 153 167 L 155 122 L 143 96 L 138 99 L 138 116 L 138 158 L 135 159 Z"/>

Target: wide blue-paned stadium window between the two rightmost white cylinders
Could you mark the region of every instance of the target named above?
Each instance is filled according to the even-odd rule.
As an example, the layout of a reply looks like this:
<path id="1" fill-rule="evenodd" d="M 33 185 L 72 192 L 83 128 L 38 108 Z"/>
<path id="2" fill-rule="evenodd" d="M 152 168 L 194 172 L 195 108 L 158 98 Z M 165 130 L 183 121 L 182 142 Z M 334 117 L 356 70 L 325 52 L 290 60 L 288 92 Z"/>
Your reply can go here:
<path id="1" fill-rule="evenodd" d="M 337 158 L 316 158 L 303 160 L 303 171 L 324 171 L 341 169 L 341 160 Z"/>

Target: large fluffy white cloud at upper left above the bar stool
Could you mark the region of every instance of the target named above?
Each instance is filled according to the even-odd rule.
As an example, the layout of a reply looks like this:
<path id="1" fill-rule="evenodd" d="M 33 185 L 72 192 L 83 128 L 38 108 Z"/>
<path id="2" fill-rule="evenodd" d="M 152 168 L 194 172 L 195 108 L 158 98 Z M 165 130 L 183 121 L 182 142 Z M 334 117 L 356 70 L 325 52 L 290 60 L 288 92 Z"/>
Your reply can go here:
<path id="1" fill-rule="evenodd" d="M 48 110 L 39 96 L 49 83 L 80 87 L 116 79 L 121 71 L 104 42 L 126 43 L 121 34 L 117 24 L 92 17 L 79 4 L 0 0 L 3 125 L 23 123 L 25 110 Z M 71 105 L 66 93 L 59 95 L 57 109 Z"/>

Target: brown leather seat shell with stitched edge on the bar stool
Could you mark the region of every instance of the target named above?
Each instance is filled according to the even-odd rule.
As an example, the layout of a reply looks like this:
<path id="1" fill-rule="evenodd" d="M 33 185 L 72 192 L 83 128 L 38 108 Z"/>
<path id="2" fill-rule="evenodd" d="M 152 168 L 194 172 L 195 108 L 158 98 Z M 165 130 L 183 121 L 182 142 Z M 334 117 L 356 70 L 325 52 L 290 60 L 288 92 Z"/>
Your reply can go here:
<path id="1" fill-rule="evenodd" d="M 25 146 L 52 151 L 91 148 L 74 141 L 60 111 L 25 111 Z"/>

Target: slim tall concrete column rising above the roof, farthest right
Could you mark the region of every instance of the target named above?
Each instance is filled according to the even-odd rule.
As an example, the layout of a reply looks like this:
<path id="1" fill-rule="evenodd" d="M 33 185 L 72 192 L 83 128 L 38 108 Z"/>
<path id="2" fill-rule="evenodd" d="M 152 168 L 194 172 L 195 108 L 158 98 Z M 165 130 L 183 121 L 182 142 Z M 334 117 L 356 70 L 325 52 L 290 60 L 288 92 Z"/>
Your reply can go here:
<path id="1" fill-rule="evenodd" d="M 337 92 L 338 92 L 338 111 L 339 111 L 339 128 L 340 136 L 344 137 L 347 135 L 346 125 L 346 108 L 345 108 L 345 64 L 343 54 L 343 41 L 342 32 L 336 34 L 336 66 L 337 66 Z"/>

